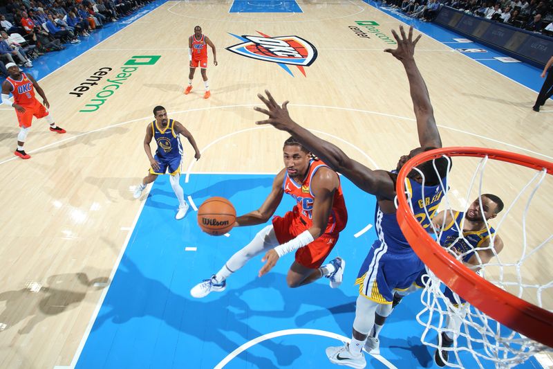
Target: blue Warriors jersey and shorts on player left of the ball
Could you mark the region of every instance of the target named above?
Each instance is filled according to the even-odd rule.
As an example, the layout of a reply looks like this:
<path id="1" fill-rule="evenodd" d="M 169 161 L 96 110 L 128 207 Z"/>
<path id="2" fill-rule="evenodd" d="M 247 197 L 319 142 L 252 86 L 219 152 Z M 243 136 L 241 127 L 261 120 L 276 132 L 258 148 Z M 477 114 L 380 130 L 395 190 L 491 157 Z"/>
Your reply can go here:
<path id="1" fill-rule="evenodd" d="M 151 132 L 153 139 L 158 144 L 158 149 L 153 159 L 160 164 L 160 170 L 156 172 L 150 168 L 151 174 L 165 174 L 169 168 L 169 174 L 177 174 L 180 172 L 180 161 L 182 160 L 182 145 L 178 133 L 175 132 L 174 120 L 169 119 L 167 127 L 160 129 L 156 124 L 156 120 L 151 123 Z"/>

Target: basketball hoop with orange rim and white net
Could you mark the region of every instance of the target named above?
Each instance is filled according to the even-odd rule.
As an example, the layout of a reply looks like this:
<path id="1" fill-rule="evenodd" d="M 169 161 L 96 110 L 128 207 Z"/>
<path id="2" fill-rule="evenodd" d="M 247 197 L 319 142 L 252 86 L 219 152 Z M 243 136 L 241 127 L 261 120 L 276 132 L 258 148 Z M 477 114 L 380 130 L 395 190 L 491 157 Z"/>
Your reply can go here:
<path id="1" fill-rule="evenodd" d="M 482 278 L 478 275 L 478 273 L 472 271 L 469 267 L 466 267 L 465 264 L 460 262 L 460 260 L 456 259 L 455 255 L 452 255 L 440 246 L 440 244 L 433 239 L 431 233 L 427 233 L 427 231 L 420 226 L 418 220 L 415 219 L 407 197 L 400 195 L 407 193 L 405 186 L 406 177 L 412 170 L 418 170 L 415 168 L 416 166 L 442 156 L 462 156 L 473 159 L 473 161 L 474 158 L 481 158 L 479 160 L 480 163 L 478 164 L 478 169 L 474 172 L 472 177 L 472 182 L 474 183 L 477 172 L 481 171 L 478 198 L 482 195 L 483 172 L 488 161 L 493 162 L 494 165 L 498 162 L 516 164 L 518 166 L 517 168 L 529 168 L 530 172 L 534 173 L 532 181 L 528 182 L 526 185 L 523 185 L 522 190 L 518 190 L 517 195 L 513 195 L 513 201 L 505 201 L 505 204 L 508 202 L 514 206 L 519 199 L 527 195 L 527 192 L 531 192 L 527 195 L 529 199 L 527 200 L 524 209 L 521 211 L 523 214 L 522 222 L 519 224 L 517 223 L 519 226 L 522 226 L 521 234 L 523 235 L 523 242 L 521 243 L 523 245 L 521 246 L 521 249 L 523 249 L 523 258 L 512 264 L 507 264 L 505 262 L 501 262 L 498 255 L 495 254 L 496 260 L 481 266 L 482 271 L 484 271 L 487 265 L 494 265 L 494 267 L 500 269 L 500 278 L 498 281 L 492 282 Z M 456 159 L 456 168 L 458 167 L 457 161 L 459 161 L 459 159 Z M 465 159 L 460 161 L 465 161 Z M 503 164 L 498 163 L 496 165 Z M 512 165 L 509 165 L 509 167 L 512 167 Z M 520 170 L 527 171 L 524 168 L 521 168 Z M 455 171 L 456 169 L 453 169 L 452 172 Z M 474 352 L 472 352 L 471 342 L 477 342 L 485 347 L 484 351 L 486 353 L 478 353 L 476 356 L 480 357 L 480 359 L 483 357 L 484 359 L 494 361 L 498 367 L 508 367 L 516 363 L 521 363 L 532 354 L 546 349 L 546 346 L 549 346 L 550 348 L 553 347 L 553 313 L 550 311 L 553 311 L 553 306 L 545 306 L 542 299 L 542 292 L 547 288 L 553 287 L 553 280 L 550 278 L 551 275 L 546 277 L 546 282 L 538 283 L 538 286 L 530 286 L 528 283 L 522 281 L 524 276 L 523 273 L 521 273 L 521 264 L 523 264 L 525 258 L 527 258 L 530 254 L 535 255 L 536 252 L 545 252 L 545 246 L 548 242 L 550 242 L 550 240 L 552 240 L 552 235 L 546 236 L 544 242 L 541 242 L 531 252 L 527 253 L 527 211 L 529 209 L 530 201 L 534 198 L 534 194 L 543 183 L 545 177 L 547 177 L 547 174 L 553 174 L 553 163 L 540 159 L 534 159 L 521 154 L 501 150 L 491 150 L 482 147 L 444 147 L 441 149 L 422 152 L 405 163 L 402 170 L 400 170 L 400 173 L 398 174 L 396 186 L 396 192 L 398 194 L 397 222 L 399 222 L 403 234 L 409 244 L 411 244 L 411 247 L 415 253 L 417 253 L 422 262 L 424 262 L 427 266 L 427 269 L 429 269 L 429 282 L 427 283 L 427 286 L 424 287 L 422 296 L 422 303 L 425 307 L 423 312 L 421 312 L 418 316 L 420 323 L 427 327 L 424 334 L 427 334 L 431 328 L 441 332 L 443 317 L 449 317 L 451 314 L 459 313 L 458 305 L 451 304 L 449 302 L 444 303 L 444 301 L 442 301 L 443 295 L 440 292 L 441 283 L 444 283 L 444 285 L 447 285 L 447 287 L 458 294 L 461 298 L 467 300 L 467 302 L 471 305 L 471 307 L 469 307 L 471 311 L 477 313 L 476 315 L 469 313 L 468 318 L 465 318 L 464 315 L 461 318 L 462 323 L 467 325 L 466 332 L 462 334 L 462 336 L 465 336 L 467 339 L 467 343 L 466 346 L 462 348 L 457 347 L 457 345 L 460 345 L 460 342 L 456 342 L 456 348 L 451 348 L 451 351 L 455 351 L 458 361 L 460 360 L 458 352 L 462 350 L 471 352 L 472 356 L 475 357 Z M 451 176 L 451 173 L 449 175 Z M 515 173 L 509 175 L 517 176 Z M 523 176 L 520 175 L 518 177 Z M 516 179 L 518 179 L 518 177 L 516 177 Z M 469 182 L 469 177 L 464 178 L 464 183 L 461 183 L 460 181 L 458 182 L 462 184 L 463 187 L 466 187 Z M 534 182 L 538 183 L 534 186 L 534 189 L 530 191 L 529 188 L 532 188 L 531 183 Z M 447 183 L 451 186 L 451 190 L 455 190 L 456 186 L 452 183 L 452 181 L 450 181 L 450 179 L 448 179 Z M 473 188 L 473 183 L 470 184 L 468 190 L 469 194 Z M 493 184 L 496 185 L 496 183 L 497 181 Z M 509 186 L 512 184 L 511 177 L 507 177 L 505 180 L 505 185 L 507 184 Z M 505 188 L 507 188 L 507 186 L 505 186 Z M 451 190 L 449 192 L 451 192 Z M 444 197 L 444 201 L 442 201 L 442 206 L 444 206 L 444 203 L 449 201 L 446 201 L 447 199 L 448 197 L 446 195 Z M 468 201 L 468 198 L 465 200 L 465 204 L 469 204 L 466 201 Z M 451 203 L 451 201 L 449 202 Z M 541 205 L 544 206 L 544 204 Z M 549 206 L 545 205 L 545 207 L 547 210 L 550 210 L 552 205 L 553 204 L 549 204 Z M 451 204 L 445 204 L 445 206 L 451 208 Z M 503 224 L 505 217 L 507 217 L 511 211 L 512 207 L 509 207 L 506 214 L 503 216 L 503 219 L 500 220 L 500 225 Z M 513 211 L 512 213 L 516 213 L 516 211 Z M 544 222 L 547 222 L 547 220 L 548 219 L 543 219 Z M 507 231 L 509 230 L 510 229 L 508 228 Z M 496 227 L 496 231 L 497 233 L 500 233 L 499 226 Z M 434 233 L 438 239 L 436 232 L 437 231 L 434 229 Z M 509 247 L 514 248 L 519 246 L 516 240 L 506 240 L 505 245 L 506 249 Z M 493 240 L 491 240 L 491 247 L 493 248 Z M 507 266 L 515 267 L 514 269 L 518 271 L 518 276 L 516 276 L 515 282 L 504 281 L 503 267 Z M 518 289 L 517 294 L 519 296 L 515 296 L 514 294 L 509 293 L 509 291 L 506 291 L 505 286 Z M 527 286 L 536 287 L 536 296 L 533 298 L 536 303 L 530 303 L 529 301 L 523 299 L 523 294 L 525 297 L 529 294 L 528 291 L 525 291 L 525 287 Z M 444 308 L 444 305 L 447 307 Z M 425 322 L 423 322 L 420 318 L 423 313 L 428 314 L 429 316 Z M 463 314 L 466 314 L 466 312 Z M 474 322 L 475 316 L 478 317 L 478 323 Z M 494 321 L 491 321 L 490 318 Z M 436 323 L 437 320 L 438 323 Z M 505 336 L 500 327 L 493 327 L 497 322 L 510 328 L 510 330 L 518 332 L 521 337 L 518 335 L 515 336 L 514 332 L 510 332 L 507 336 Z M 469 326 L 470 329 L 468 328 Z M 469 331 L 473 331 L 474 327 L 476 327 L 476 330 L 480 330 L 480 334 L 484 336 L 483 339 L 480 336 L 475 338 L 475 334 L 469 333 Z M 496 342 L 489 343 L 489 336 L 494 336 L 494 340 Z M 427 343 L 424 341 L 424 336 L 423 343 L 440 349 L 440 343 L 438 343 L 438 345 Z M 489 345 L 493 346 L 493 348 L 489 349 Z M 498 348 L 499 346 L 501 346 L 501 348 Z M 458 364 L 459 365 L 451 365 L 448 363 L 447 365 L 462 367 L 460 362 Z M 478 364 L 481 366 L 479 361 Z"/>

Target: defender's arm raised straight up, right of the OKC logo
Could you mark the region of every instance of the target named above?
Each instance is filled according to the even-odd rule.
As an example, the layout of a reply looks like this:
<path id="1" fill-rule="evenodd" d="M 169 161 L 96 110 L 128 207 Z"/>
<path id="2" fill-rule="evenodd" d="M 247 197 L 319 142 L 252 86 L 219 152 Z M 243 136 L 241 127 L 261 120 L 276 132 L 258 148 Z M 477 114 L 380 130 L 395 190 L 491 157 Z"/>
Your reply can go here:
<path id="1" fill-rule="evenodd" d="M 400 26 L 400 33 L 401 38 L 395 30 L 392 30 L 392 35 L 397 41 L 397 48 L 395 50 L 386 48 L 384 52 L 391 53 L 397 60 L 400 60 L 407 73 L 421 147 L 442 147 L 442 140 L 440 139 L 440 132 L 438 132 L 438 127 L 436 127 L 434 120 L 434 111 L 430 102 L 427 84 L 424 83 L 424 79 L 413 56 L 415 45 L 421 35 L 418 35 L 413 40 L 413 27 L 409 27 L 409 36 L 406 36 L 403 26 Z"/>

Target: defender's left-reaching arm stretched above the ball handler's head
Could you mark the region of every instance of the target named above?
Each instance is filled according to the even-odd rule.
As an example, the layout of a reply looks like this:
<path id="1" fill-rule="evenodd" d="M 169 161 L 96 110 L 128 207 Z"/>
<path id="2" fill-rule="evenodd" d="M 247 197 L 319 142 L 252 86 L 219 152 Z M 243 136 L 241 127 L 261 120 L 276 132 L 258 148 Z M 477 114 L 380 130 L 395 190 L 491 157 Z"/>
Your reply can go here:
<path id="1" fill-rule="evenodd" d="M 344 174 L 350 181 L 355 183 L 355 186 L 373 195 L 393 199 L 395 188 L 388 172 L 384 170 L 371 170 L 362 163 L 351 159 L 336 145 L 332 145 L 332 143 L 315 136 L 315 134 L 301 127 L 290 118 L 287 108 L 288 101 L 279 106 L 269 91 L 265 90 L 265 93 L 267 94 L 267 98 L 261 94 L 257 96 L 265 103 L 268 109 L 261 107 L 254 107 L 254 109 L 266 114 L 269 118 L 256 122 L 256 124 L 270 124 L 277 129 L 289 132 L 307 147 L 310 152 L 323 159 L 330 168 Z"/>

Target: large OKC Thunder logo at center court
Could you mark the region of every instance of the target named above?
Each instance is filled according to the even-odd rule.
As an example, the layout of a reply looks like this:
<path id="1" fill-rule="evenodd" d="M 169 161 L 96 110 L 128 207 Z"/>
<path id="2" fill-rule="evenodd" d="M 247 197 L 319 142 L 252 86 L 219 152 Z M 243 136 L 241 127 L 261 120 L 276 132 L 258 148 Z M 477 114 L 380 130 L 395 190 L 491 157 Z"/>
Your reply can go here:
<path id="1" fill-rule="evenodd" d="M 303 66 L 310 66 L 317 59 L 317 49 L 310 42 L 298 36 L 278 36 L 270 37 L 261 32 L 259 36 L 238 36 L 237 39 L 243 41 L 241 44 L 227 47 L 238 55 L 251 57 L 252 59 L 263 60 L 265 62 L 277 63 L 282 69 L 290 73 L 288 65 L 297 66 L 299 71 L 305 76 L 306 72 Z M 287 65 L 288 64 L 288 65 Z"/>

